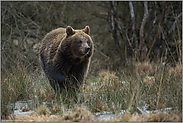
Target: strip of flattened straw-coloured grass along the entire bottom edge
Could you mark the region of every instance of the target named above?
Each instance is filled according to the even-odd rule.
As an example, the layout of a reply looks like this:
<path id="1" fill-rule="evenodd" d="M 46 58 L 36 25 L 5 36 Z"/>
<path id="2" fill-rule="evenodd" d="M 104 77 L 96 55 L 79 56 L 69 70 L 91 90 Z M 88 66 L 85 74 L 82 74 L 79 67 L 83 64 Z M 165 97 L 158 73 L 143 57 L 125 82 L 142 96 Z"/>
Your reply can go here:
<path id="1" fill-rule="evenodd" d="M 124 114 L 110 120 L 98 120 L 90 111 L 77 107 L 64 115 L 15 115 L 3 122 L 182 122 L 182 116 L 176 113 L 156 112 L 149 114 Z"/>

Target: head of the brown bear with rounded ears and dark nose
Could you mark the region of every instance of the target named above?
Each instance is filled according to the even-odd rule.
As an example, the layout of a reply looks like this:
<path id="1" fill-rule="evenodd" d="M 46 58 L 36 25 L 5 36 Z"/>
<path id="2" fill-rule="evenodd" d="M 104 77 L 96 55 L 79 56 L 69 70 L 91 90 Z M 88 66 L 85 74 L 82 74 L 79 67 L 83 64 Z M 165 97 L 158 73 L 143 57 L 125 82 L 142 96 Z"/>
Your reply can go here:
<path id="1" fill-rule="evenodd" d="M 69 47 L 67 55 L 70 54 L 72 58 L 90 57 L 93 52 L 93 42 L 89 34 L 89 26 L 82 30 L 74 30 L 71 26 L 67 26 L 64 40 L 66 47 Z"/>

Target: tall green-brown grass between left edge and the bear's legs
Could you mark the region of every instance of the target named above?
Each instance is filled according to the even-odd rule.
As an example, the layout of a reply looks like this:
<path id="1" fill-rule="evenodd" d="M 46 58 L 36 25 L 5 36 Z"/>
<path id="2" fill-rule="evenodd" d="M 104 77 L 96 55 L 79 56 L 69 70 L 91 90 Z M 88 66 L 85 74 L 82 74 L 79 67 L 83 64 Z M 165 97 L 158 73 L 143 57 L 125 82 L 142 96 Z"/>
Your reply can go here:
<path id="1" fill-rule="evenodd" d="M 9 116 L 13 113 L 17 101 L 26 101 L 28 104 L 26 108 L 32 109 L 43 101 L 50 101 L 53 98 L 53 90 L 39 73 L 30 73 L 28 68 L 21 63 L 11 73 L 3 69 L 1 78 L 2 119 L 10 119 Z M 28 100 L 31 100 L 33 104 L 29 105 Z"/>

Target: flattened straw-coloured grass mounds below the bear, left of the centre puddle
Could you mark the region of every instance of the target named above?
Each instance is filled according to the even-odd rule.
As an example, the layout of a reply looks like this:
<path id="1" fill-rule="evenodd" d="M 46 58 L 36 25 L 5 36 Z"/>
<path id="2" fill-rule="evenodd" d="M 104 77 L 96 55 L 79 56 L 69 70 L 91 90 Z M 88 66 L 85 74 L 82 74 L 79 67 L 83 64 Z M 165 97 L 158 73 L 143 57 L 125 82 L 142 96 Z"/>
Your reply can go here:
<path id="1" fill-rule="evenodd" d="M 86 108 L 76 107 L 62 115 L 50 115 L 49 109 L 39 107 L 31 115 L 14 115 L 3 122 L 97 122 L 97 118 Z"/>

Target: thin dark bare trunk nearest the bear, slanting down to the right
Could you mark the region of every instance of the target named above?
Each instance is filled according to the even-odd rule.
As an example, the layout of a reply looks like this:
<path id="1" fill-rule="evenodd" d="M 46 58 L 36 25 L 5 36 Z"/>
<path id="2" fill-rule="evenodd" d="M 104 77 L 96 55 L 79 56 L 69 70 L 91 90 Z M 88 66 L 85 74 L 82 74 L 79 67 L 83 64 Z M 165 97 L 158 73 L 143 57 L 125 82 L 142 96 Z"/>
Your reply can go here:
<path id="1" fill-rule="evenodd" d="M 111 21 L 111 31 L 112 31 L 112 36 L 116 45 L 116 50 L 119 54 L 119 57 L 121 59 L 122 65 L 125 64 L 126 59 L 124 58 L 124 55 L 122 54 L 122 50 L 119 44 L 119 40 L 118 40 L 118 36 L 117 36 L 117 25 L 115 23 L 115 19 L 116 19 L 116 11 L 114 8 L 114 1 L 111 2 L 111 17 L 110 17 L 110 21 Z"/>

